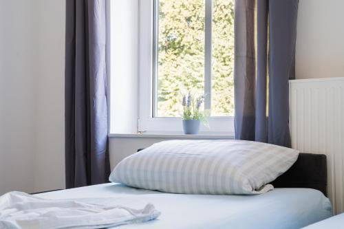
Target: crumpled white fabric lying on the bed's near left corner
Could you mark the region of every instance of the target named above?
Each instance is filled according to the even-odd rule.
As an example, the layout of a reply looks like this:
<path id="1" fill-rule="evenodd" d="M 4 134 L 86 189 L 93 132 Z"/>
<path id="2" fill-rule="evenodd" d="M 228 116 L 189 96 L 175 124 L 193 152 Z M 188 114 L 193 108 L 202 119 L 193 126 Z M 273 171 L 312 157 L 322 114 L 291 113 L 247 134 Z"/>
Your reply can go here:
<path id="1" fill-rule="evenodd" d="M 67 199 L 43 199 L 21 192 L 0 197 L 1 229 L 109 228 L 149 221 L 159 215 L 152 204 L 143 209 L 132 209 Z"/>

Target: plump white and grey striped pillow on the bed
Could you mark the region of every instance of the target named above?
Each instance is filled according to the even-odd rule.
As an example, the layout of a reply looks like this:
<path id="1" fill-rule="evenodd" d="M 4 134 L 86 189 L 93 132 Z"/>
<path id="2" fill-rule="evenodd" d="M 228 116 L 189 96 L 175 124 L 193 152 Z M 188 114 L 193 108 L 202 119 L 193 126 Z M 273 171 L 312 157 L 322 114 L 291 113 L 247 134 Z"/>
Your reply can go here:
<path id="1" fill-rule="evenodd" d="M 294 164 L 299 151 L 241 140 L 171 140 L 122 160 L 109 180 L 166 193 L 259 194 Z"/>

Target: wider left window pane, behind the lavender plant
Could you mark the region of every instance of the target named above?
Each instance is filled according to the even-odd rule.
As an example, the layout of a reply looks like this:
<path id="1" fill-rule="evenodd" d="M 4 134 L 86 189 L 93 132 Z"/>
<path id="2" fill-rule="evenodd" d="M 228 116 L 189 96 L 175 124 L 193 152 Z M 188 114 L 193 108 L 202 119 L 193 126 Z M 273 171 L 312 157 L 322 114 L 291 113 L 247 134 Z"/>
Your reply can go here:
<path id="1" fill-rule="evenodd" d="M 204 0 L 160 0 L 155 116 L 180 117 L 182 94 L 204 94 Z"/>

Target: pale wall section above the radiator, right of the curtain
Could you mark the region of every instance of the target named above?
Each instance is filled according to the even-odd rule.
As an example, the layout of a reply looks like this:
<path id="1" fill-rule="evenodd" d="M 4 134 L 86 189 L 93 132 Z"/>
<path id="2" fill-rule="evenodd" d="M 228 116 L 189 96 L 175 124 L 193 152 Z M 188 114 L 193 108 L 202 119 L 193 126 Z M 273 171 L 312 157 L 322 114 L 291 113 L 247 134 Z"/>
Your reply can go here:
<path id="1" fill-rule="evenodd" d="M 344 76 L 344 1 L 300 0 L 297 78 Z"/>

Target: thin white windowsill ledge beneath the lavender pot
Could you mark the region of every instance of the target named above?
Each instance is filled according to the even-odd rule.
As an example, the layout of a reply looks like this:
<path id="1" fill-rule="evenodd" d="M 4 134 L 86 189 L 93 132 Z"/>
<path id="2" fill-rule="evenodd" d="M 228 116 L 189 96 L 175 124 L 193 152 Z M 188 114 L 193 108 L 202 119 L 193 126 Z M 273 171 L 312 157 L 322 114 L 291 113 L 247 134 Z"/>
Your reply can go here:
<path id="1" fill-rule="evenodd" d="M 235 139 L 232 134 L 184 133 L 109 133 L 109 138 L 185 138 L 185 139 Z"/>

